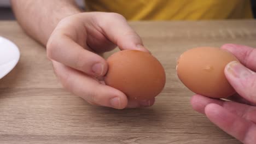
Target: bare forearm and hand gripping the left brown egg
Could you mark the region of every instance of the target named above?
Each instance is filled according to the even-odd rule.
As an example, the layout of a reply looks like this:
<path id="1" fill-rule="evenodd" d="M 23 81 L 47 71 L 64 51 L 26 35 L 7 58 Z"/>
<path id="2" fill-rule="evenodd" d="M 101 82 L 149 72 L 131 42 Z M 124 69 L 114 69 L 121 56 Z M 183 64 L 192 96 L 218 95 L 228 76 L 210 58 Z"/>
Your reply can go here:
<path id="1" fill-rule="evenodd" d="M 71 0 L 12 0 L 11 5 L 25 32 L 46 46 L 55 74 L 68 91 L 90 104 L 115 109 L 154 104 L 154 99 L 130 101 L 102 81 L 108 65 L 98 53 L 116 46 L 149 52 L 123 16 L 83 13 Z"/>

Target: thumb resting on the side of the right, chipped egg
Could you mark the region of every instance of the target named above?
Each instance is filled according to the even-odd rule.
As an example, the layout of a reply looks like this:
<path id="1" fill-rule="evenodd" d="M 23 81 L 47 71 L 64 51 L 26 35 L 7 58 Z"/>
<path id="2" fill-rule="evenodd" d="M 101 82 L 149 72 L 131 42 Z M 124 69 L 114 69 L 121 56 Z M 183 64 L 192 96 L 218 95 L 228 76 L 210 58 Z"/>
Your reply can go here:
<path id="1" fill-rule="evenodd" d="M 256 74 L 239 62 L 230 62 L 225 67 L 226 79 L 241 97 L 256 104 Z"/>

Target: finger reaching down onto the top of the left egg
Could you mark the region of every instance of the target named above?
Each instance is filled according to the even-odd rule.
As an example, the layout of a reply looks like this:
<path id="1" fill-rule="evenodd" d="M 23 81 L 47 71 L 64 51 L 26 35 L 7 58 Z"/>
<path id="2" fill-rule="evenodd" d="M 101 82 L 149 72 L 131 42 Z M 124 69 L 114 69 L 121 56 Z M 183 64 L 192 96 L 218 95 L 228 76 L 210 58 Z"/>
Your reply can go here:
<path id="1" fill-rule="evenodd" d="M 97 13 L 96 13 L 97 14 Z M 142 43 L 139 35 L 128 25 L 124 16 L 108 13 L 108 16 L 98 16 L 98 25 L 103 33 L 121 50 L 141 50 L 149 52 Z"/>

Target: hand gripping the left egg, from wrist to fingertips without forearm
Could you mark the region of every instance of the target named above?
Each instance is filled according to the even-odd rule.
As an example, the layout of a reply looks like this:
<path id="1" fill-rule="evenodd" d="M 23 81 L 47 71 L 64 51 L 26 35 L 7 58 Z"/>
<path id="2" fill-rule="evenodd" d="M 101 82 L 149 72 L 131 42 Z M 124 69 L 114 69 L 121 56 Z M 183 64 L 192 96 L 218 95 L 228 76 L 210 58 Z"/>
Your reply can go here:
<path id="1" fill-rule="evenodd" d="M 129 101 L 123 92 L 99 79 L 107 73 L 108 64 L 96 53 L 116 46 L 149 52 L 123 16 L 94 12 L 63 18 L 51 34 L 46 51 L 63 87 L 88 103 L 115 109 L 153 105 L 154 99 Z"/>

